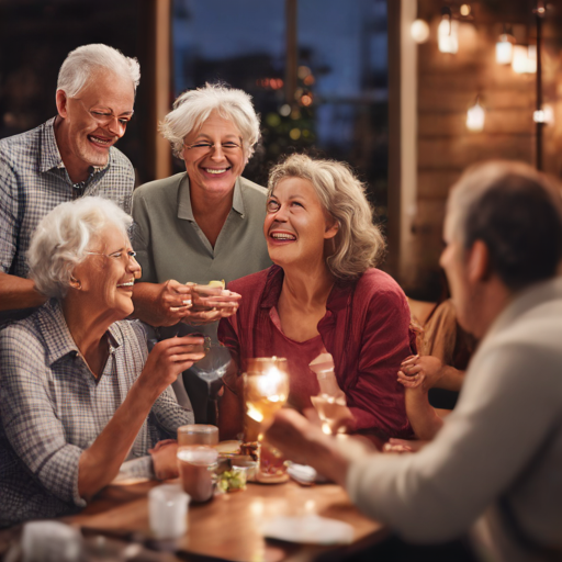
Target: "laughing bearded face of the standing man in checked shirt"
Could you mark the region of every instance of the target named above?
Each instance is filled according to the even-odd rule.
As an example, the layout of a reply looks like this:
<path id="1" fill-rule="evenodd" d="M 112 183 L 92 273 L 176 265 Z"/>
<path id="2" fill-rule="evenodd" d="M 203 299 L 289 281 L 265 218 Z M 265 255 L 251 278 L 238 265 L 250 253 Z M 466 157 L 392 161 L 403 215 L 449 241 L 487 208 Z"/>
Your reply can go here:
<path id="1" fill-rule="evenodd" d="M 59 90 L 59 114 L 68 126 L 63 150 L 88 166 L 105 166 L 110 146 L 125 134 L 134 101 L 132 81 L 111 71 L 97 72 L 75 98 Z"/>

